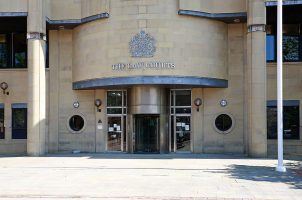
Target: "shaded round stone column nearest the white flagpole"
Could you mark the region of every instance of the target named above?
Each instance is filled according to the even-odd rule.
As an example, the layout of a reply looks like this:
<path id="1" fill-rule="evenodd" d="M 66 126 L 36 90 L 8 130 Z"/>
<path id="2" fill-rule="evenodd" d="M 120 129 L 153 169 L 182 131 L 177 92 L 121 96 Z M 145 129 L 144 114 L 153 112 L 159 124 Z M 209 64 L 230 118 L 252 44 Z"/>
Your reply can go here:
<path id="1" fill-rule="evenodd" d="M 245 130 L 248 138 L 247 153 L 252 157 L 267 156 L 265 24 L 264 0 L 249 0 Z"/>

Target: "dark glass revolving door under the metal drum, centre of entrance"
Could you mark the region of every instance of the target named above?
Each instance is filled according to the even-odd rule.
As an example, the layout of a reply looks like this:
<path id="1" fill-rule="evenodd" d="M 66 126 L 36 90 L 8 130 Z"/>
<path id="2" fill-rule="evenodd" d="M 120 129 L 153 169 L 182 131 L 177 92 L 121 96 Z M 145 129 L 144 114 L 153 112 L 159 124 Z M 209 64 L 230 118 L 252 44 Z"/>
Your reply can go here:
<path id="1" fill-rule="evenodd" d="M 159 152 L 159 116 L 135 116 L 135 152 Z"/>

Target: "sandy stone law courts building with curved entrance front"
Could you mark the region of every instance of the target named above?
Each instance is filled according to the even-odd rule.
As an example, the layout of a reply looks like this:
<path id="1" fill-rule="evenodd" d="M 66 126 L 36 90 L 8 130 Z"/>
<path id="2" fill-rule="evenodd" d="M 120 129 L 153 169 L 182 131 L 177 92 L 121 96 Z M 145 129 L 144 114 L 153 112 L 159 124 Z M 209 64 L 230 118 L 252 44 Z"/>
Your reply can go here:
<path id="1" fill-rule="evenodd" d="M 276 154 L 276 1 L 0 0 L 0 154 Z M 284 1 L 302 155 L 302 1 Z"/>

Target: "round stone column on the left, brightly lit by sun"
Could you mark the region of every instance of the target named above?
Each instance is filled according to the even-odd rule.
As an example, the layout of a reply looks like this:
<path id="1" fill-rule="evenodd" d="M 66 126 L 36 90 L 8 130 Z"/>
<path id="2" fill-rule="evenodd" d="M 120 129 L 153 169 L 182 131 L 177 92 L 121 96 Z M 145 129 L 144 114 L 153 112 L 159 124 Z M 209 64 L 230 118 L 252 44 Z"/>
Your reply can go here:
<path id="1" fill-rule="evenodd" d="M 27 154 L 45 154 L 45 16 L 44 1 L 28 0 L 28 124 Z"/>

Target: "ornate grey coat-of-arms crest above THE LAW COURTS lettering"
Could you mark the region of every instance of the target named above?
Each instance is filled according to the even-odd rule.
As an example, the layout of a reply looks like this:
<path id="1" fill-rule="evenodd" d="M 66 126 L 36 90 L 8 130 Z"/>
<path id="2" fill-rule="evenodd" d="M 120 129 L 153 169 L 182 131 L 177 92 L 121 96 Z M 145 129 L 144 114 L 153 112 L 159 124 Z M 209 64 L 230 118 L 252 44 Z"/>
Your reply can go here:
<path id="1" fill-rule="evenodd" d="M 131 56 L 140 58 L 153 57 L 156 52 L 155 42 L 155 39 L 145 31 L 139 32 L 129 42 Z"/>

